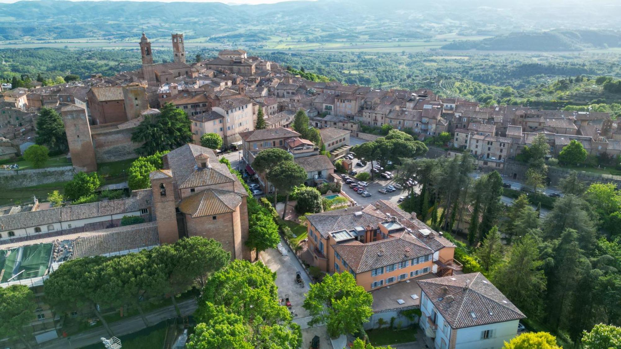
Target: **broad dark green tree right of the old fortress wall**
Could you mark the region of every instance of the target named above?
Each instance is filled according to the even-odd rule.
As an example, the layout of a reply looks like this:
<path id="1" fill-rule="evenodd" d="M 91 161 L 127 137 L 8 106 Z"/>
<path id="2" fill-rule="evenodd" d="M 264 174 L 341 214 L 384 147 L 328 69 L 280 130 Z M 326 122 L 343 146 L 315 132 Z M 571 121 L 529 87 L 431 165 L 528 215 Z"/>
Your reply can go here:
<path id="1" fill-rule="evenodd" d="M 146 116 L 132 133 L 132 142 L 142 143 L 136 148 L 138 155 L 150 155 L 181 147 L 192 142 L 192 122 L 183 109 L 171 103 L 160 108 L 160 114 Z"/>

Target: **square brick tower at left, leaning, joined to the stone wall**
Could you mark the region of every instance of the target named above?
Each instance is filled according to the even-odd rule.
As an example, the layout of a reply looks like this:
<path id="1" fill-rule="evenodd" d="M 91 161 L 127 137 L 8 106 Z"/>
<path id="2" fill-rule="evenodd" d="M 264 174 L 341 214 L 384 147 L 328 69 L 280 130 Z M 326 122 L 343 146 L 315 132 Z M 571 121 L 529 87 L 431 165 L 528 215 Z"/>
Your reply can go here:
<path id="1" fill-rule="evenodd" d="M 73 168 L 84 172 L 97 171 L 95 148 L 86 109 L 75 104 L 63 104 L 60 107 L 60 114 L 65 124 Z"/>

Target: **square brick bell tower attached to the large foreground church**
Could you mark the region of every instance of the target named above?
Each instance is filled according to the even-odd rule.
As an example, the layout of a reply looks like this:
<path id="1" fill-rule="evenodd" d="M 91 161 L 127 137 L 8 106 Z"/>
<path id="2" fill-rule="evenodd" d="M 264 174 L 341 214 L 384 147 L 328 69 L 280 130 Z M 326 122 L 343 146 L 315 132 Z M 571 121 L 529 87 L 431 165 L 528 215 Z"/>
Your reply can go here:
<path id="1" fill-rule="evenodd" d="M 158 170 L 149 174 L 153 191 L 153 209 L 157 220 L 160 243 L 175 243 L 179 240 L 177 214 L 175 211 L 175 189 L 170 170 Z"/>

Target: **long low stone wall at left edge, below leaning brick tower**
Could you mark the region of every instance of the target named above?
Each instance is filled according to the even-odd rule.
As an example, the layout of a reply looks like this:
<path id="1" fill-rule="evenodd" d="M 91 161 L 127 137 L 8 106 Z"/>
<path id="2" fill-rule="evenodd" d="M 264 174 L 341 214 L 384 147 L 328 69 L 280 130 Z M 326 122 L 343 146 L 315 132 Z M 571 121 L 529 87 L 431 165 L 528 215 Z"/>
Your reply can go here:
<path id="1" fill-rule="evenodd" d="M 0 188 L 24 188 L 73 179 L 73 167 L 37 168 L 34 170 L 0 171 Z"/>

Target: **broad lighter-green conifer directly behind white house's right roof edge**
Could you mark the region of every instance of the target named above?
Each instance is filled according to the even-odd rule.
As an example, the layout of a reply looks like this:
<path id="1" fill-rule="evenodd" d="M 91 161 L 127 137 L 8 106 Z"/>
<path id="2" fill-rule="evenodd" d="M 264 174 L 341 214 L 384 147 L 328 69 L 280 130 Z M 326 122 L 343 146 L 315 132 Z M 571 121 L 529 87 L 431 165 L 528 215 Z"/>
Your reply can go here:
<path id="1" fill-rule="evenodd" d="M 517 240 L 504 263 L 492 273 L 494 285 L 528 317 L 542 315 L 546 276 L 537 239 L 526 235 Z"/>

